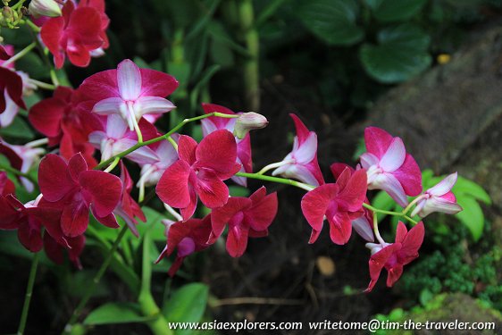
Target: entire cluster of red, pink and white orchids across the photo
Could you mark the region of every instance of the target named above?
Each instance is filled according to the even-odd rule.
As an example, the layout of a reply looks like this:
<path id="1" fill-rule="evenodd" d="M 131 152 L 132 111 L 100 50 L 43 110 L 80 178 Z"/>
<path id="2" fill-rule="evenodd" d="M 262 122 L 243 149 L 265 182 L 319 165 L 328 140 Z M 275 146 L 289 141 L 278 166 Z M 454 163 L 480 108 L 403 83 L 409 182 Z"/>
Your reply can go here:
<path id="1" fill-rule="evenodd" d="M 65 56 L 75 65 L 87 66 L 91 56 L 102 54 L 108 46 L 109 20 L 103 0 L 79 4 L 32 0 L 31 4 L 30 10 L 40 15 L 35 27 L 41 27 L 41 41 L 54 55 L 56 68 L 63 66 Z M 5 127 L 19 108 L 26 108 L 23 93 L 40 83 L 14 70 L 12 46 L 0 46 L 0 59 L 0 126 Z M 291 152 L 255 173 L 249 130 L 266 126 L 263 115 L 203 104 L 204 115 L 163 134 L 155 121 L 175 108 L 166 96 L 177 87 L 172 76 L 140 69 L 130 60 L 119 63 L 117 69 L 91 75 L 77 89 L 56 86 L 52 97 L 29 109 L 31 125 L 46 138 L 24 146 L 1 141 L 0 154 L 10 161 L 10 172 L 16 172 L 29 191 L 36 189 L 29 171 L 39 162 L 40 194 L 21 204 L 13 181 L 0 172 L 0 229 L 17 230 L 24 247 L 32 252 L 44 248 L 56 263 L 63 262 L 63 250 L 67 250 L 70 260 L 80 266 L 89 213 L 110 228 L 119 227 L 118 215 L 138 236 L 138 221 L 146 221 L 138 202 L 143 201 L 147 187 L 155 186 L 156 195 L 175 219 L 163 220 L 166 247 L 159 256 L 161 260 L 176 251 L 169 270 L 174 275 L 186 256 L 213 245 L 227 227 L 226 248 L 233 257 L 244 254 L 249 238 L 268 234 L 278 211 L 277 194 L 262 187 L 250 197 L 230 197 L 226 180 L 245 187 L 247 178 L 277 181 L 307 191 L 301 209 L 312 227 L 309 243 L 318 239 L 324 221 L 337 245 L 346 244 L 353 229 L 367 242 L 371 281 L 366 290 L 371 291 L 383 268 L 392 286 L 403 266 L 418 257 L 424 225 L 413 217 L 462 210 L 451 192 L 456 173 L 423 192 L 422 173 L 401 138 L 378 128 L 364 131 L 366 152 L 360 163 L 354 168 L 333 163 L 330 170 L 336 181 L 328 183 L 317 162 L 317 136 L 295 114 L 291 117 L 297 134 Z M 186 122 L 198 120 L 204 136 L 200 143 L 176 132 Z M 42 145 L 51 153 L 45 155 Z M 140 167 L 138 202 L 130 196 L 134 182 L 122 158 Z M 117 177 L 111 172 L 119 164 Z M 272 176 L 265 176 L 269 171 Z M 399 222 L 394 242 L 381 238 L 379 211 L 367 198 L 372 189 L 386 191 L 404 208 L 396 214 L 413 225 L 407 230 Z M 408 197 L 414 199 L 410 202 Z M 194 218 L 198 200 L 211 210 L 201 219 Z"/>

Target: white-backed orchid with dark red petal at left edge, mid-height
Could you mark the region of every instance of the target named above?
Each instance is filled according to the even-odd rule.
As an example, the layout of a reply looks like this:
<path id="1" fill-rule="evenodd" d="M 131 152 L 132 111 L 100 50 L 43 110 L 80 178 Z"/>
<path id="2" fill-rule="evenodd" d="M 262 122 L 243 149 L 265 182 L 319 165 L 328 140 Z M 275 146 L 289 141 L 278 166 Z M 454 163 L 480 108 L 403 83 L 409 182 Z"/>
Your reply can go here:
<path id="1" fill-rule="evenodd" d="M 13 168 L 28 173 L 31 168 L 38 163 L 40 156 L 46 153 L 46 150 L 37 147 L 38 141 L 33 141 L 24 146 L 15 146 L 5 142 L 0 138 L 0 154 L 7 157 Z M 20 177 L 22 185 L 27 191 L 32 192 L 35 188 L 33 183 L 27 178 Z"/>

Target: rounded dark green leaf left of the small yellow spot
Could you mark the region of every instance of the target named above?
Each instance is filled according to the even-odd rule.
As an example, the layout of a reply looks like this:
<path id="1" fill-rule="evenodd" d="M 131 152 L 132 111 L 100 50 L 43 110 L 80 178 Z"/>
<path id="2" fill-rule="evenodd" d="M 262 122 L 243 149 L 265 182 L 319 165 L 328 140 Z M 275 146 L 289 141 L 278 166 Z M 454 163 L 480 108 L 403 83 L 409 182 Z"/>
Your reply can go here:
<path id="1" fill-rule="evenodd" d="M 382 83 L 409 80 L 431 64 L 427 52 L 431 38 L 420 27 L 403 24 L 383 29 L 377 39 L 378 45 L 366 43 L 359 49 L 364 70 L 375 80 Z"/>

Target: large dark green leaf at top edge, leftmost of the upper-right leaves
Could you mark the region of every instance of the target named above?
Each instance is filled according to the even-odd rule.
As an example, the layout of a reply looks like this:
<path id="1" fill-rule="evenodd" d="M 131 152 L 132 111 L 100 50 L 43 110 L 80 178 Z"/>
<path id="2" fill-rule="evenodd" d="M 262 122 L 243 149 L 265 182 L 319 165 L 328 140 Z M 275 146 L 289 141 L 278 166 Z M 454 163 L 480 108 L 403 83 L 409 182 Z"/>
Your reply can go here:
<path id="1" fill-rule="evenodd" d="M 305 1 L 297 15 L 306 29 L 332 46 L 352 46 L 364 38 L 356 25 L 359 6 L 354 0 Z"/>

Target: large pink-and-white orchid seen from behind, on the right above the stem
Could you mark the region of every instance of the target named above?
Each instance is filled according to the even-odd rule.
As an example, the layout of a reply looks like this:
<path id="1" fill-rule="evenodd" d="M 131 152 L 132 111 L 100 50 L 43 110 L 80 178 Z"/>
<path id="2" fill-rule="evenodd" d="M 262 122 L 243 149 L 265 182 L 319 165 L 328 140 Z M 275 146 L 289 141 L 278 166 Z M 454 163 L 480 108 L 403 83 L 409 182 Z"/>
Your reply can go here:
<path id="1" fill-rule="evenodd" d="M 406 196 L 422 192 L 422 173 L 412 155 L 406 154 L 403 140 L 368 127 L 364 141 L 367 152 L 361 155 L 361 165 L 368 172 L 368 189 L 383 189 L 398 205 L 406 207 Z"/>

